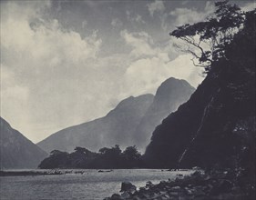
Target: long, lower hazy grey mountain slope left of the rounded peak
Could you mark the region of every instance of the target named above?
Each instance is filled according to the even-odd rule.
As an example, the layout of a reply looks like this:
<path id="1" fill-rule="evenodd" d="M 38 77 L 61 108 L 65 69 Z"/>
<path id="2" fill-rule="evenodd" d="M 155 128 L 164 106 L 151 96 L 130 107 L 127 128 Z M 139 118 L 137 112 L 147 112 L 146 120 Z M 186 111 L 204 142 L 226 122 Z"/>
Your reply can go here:
<path id="1" fill-rule="evenodd" d="M 38 145 L 46 152 L 54 149 L 71 152 L 76 146 L 92 151 L 111 145 L 134 145 L 131 136 L 152 104 L 154 95 L 130 96 L 121 101 L 108 115 L 75 125 L 50 135 Z"/>

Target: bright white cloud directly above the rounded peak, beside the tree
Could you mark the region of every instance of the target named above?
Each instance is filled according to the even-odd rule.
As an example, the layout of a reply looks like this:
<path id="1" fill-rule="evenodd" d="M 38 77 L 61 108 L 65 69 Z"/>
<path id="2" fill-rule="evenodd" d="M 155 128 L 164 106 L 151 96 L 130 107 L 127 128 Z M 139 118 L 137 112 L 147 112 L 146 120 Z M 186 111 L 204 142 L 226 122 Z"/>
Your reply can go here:
<path id="1" fill-rule="evenodd" d="M 195 87 L 202 81 L 202 69 L 192 64 L 190 55 L 179 55 L 170 60 L 171 46 L 156 46 L 148 33 L 128 33 L 125 30 L 121 35 L 132 47 L 129 56 L 133 58 L 124 75 L 122 91 L 126 91 L 126 94 L 154 94 L 170 76 L 188 80 Z"/>

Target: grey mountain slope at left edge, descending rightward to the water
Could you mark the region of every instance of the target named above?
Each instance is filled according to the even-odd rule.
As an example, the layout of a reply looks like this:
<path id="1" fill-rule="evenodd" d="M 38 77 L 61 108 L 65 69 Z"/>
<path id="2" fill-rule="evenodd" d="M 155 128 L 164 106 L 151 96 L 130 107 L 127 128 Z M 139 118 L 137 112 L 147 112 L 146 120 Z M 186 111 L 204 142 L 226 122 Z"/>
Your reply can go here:
<path id="1" fill-rule="evenodd" d="M 1 169 L 36 168 L 47 154 L 0 117 Z"/>

